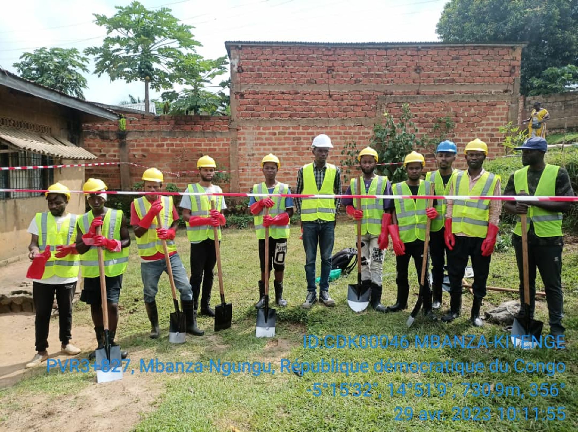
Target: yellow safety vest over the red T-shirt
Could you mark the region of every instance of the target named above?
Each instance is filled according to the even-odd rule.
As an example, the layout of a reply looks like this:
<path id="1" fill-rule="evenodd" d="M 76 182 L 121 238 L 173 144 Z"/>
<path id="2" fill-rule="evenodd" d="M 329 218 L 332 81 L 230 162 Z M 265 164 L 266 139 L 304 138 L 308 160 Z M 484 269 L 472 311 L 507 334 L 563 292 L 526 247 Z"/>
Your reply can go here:
<path id="1" fill-rule="evenodd" d="M 161 197 L 162 209 L 159 213 L 161 216 L 162 227 L 171 228 L 173 224 L 173 197 Z M 135 198 L 135 211 L 140 219 L 149 212 L 151 202 L 145 197 Z M 136 238 L 136 247 L 141 257 L 151 257 L 157 252 L 163 253 L 165 250 L 162 247 L 161 239 L 157 235 L 157 219 L 153 219 L 149 229 L 142 236 Z M 166 248 L 169 253 L 177 250 L 174 240 L 166 241 Z"/>

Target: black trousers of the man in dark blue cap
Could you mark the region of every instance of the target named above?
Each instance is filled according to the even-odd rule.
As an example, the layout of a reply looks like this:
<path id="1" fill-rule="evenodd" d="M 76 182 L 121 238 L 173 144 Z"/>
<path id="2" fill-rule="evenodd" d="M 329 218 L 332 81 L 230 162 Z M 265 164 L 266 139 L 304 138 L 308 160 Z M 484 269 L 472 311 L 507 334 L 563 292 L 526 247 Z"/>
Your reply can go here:
<path id="1" fill-rule="evenodd" d="M 520 303 L 524 304 L 524 272 L 522 261 L 522 238 L 512 235 L 512 245 L 516 251 L 518 274 L 520 275 Z M 550 332 L 553 335 L 563 335 L 562 307 L 562 246 L 535 246 L 528 245 L 528 287 L 530 291 L 530 316 L 533 317 L 536 306 L 536 267 L 544 283 L 546 303 L 550 321 Z M 521 309 L 524 310 L 523 308 Z"/>

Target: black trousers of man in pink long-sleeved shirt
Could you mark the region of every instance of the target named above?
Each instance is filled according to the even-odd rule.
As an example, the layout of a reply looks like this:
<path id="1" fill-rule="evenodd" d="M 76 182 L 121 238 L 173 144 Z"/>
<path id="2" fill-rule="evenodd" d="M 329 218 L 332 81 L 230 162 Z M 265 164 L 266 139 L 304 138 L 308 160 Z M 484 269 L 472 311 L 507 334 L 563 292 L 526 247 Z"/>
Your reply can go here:
<path id="1" fill-rule="evenodd" d="M 473 295 L 477 298 L 486 296 L 486 283 L 490 273 L 490 261 L 492 256 L 481 256 L 481 243 L 484 241 L 480 237 L 455 236 L 454 250 L 448 251 L 447 275 L 450 278 L 450 294 L 462 293 L 462 279 L 468 265 L 468 258 L 472 258 L 473 269 Z"/>

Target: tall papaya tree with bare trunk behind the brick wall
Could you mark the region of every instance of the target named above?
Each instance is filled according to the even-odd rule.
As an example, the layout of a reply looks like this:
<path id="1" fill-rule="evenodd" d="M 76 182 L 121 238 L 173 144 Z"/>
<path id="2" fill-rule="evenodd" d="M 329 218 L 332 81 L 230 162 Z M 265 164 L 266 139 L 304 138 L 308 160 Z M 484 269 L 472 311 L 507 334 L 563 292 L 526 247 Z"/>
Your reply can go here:
<path id="1" fill-rule="evenodd" d="M 198 55 L 195 48 L 201 43 L 193 39 L 193 27 L 180 24 L 171 9 L 149 10 L 138 1 L 116 9 L 112 17 L 94 14 L 97 25 L 106 28 L 107 36 L 102 46 L 84 52 L 95 56 L 98 76 L 106 73 L 112 81 L 144 82 L 146 112 L 149 86 L 160 91 L 175 84 L 202 82 L 215 65 L 226 64 L 224 57 L 212 61 Z"/>

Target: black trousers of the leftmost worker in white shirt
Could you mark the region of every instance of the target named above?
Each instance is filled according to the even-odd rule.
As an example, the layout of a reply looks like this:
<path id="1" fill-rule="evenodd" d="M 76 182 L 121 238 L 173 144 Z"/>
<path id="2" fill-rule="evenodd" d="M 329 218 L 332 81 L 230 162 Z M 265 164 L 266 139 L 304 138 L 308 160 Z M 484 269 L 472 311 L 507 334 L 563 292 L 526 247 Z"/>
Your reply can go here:
<path id="1" fill-rule="evenodd" d="M 34 319 L 36 351 L 46 351 L 54 294 L 58 304 L 58 337 L 62 345 L 72 339 L 72 298 L 76 291 L 76 282 L 71 284 L 49 285 L 32 283 L 32 299 L 36 317 Z"/>

